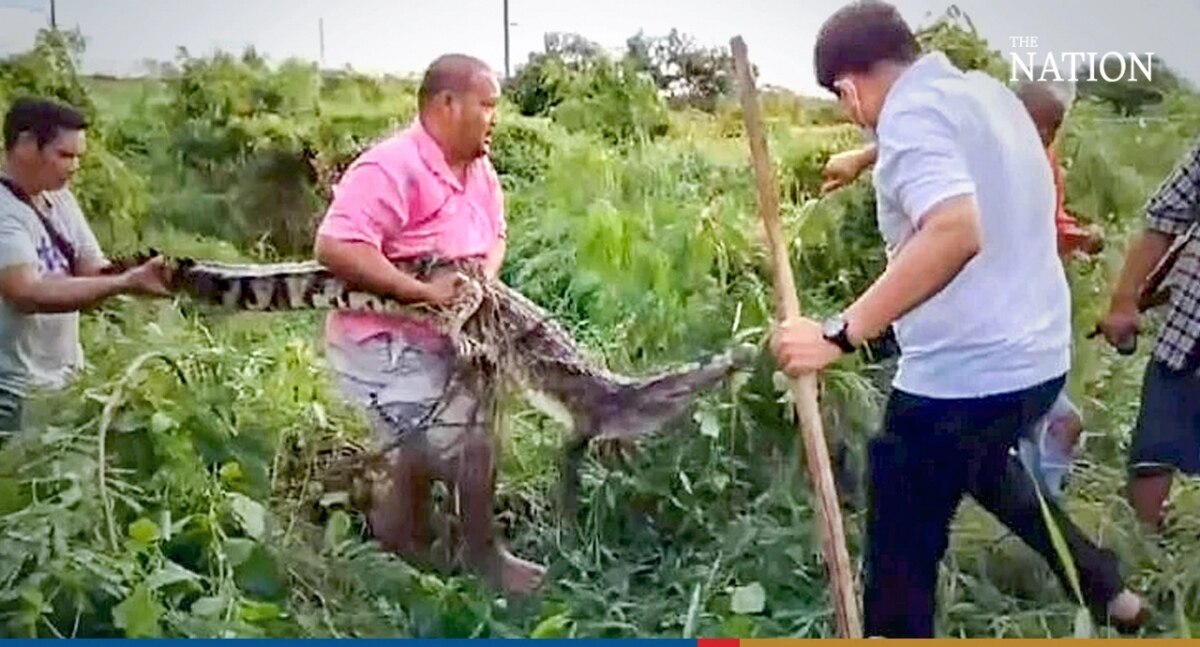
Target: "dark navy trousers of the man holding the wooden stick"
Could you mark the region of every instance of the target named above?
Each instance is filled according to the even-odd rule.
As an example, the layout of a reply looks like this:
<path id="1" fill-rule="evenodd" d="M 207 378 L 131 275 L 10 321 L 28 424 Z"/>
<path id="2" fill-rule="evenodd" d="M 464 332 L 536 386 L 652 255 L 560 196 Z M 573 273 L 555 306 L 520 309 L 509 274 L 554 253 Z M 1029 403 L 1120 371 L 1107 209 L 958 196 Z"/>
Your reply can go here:
<path id="1" fill-rule="evenodd" d="M 970 400 L 935 400 L 893 391 L 883 433 L 869 448 L 869 510 L 864 623 L 868 636 L 934 635 L 937 564 L 964 495 L 1045 558 L 1074 598 L 1028 472 L 1009 454 L 1021 431 L 1044 415 L 1064 378 Z M 1123 588 L 1115 556 L 1092 544 L 1046 501 L 1066 539 L 1085 603 L 1103 622 Z"/>

